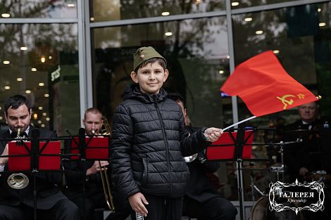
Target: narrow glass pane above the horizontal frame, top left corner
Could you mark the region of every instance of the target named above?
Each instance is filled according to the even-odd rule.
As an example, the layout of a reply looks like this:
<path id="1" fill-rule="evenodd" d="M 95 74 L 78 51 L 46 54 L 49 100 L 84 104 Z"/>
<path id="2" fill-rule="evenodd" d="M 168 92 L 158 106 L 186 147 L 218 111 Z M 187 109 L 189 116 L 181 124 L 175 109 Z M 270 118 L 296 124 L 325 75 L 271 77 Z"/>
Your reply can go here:
<path id="1" fill-rule="evenodd" d="M 76 0 L 1 0 L 0 18 L 77 18 Z"/>

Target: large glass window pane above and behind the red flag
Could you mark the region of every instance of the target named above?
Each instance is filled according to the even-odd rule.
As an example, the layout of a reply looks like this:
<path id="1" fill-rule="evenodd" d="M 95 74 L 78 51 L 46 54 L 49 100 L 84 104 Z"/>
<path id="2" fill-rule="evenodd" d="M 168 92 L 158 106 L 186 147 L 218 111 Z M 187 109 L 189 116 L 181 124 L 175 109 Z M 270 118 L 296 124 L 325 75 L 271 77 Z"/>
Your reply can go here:
<path id="1" fill-rule="evenodd" d="M 330 3 L 325 3 L 233 15 L 236 65 L 262 51 L 273 50 L 289 75 L 316 95 L 326 95 L 327 86 L 323 86 L 321 77 L 329 74 L 326 67 L 330 67 L 329 11 Z M 251 20 L 247 22 L 246 18 Z M 322 115 L 330 115 L 327 99 L 320 101 Z M 240 117 L 246 117 L 246 113 Z M 287 123 L 295 118 L 287 117 Z"/>

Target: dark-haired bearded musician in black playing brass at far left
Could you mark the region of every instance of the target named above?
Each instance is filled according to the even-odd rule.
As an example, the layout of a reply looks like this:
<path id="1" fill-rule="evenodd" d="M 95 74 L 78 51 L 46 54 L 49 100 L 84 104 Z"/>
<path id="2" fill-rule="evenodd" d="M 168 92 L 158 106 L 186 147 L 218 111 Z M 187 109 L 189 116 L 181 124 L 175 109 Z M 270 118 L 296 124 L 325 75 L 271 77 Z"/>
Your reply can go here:
<path id="1" fill-rule="evenodd" d="M 15 138 L 20 134 L 31 137 L 34 127 L 30 125 L 32 110 L 25 96 L 15 95 L 8 98 L 4 105 L 6 122 L 9 129 L 1 131 L 0 138 Z M 40 137 L 54 136 L 51 131 L 39 130 Z M 1 141 L 1 155 L 8 155 L 8 141 Z M 0 169 L 8 170 L 8 157 L 0 158 Z M 0 170 L 1 172 L 1 170 Z M 1 174 L 1 173 L 0 173 Z M 9 173 L 0 176 L 0 219 L 32 219 L 34 211 L 34 183 L 31 174 L 27 174 L 30 183 L 23 189 L 8 186 Z M 61 173 L 37 172 L 37 218 L 38 219 L 79 219 L 77 206 L 68 200 L 58 189 Z"/>

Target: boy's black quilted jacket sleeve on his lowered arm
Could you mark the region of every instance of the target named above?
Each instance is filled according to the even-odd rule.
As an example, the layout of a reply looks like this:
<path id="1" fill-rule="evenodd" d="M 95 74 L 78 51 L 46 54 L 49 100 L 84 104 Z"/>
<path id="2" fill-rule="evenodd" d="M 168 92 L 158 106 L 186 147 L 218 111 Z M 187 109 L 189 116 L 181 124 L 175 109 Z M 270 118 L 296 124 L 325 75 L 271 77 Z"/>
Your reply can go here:
<path id="1" fill-rule="evenodd" d="M 130 152 L 132 150 L 133 124 L 128 112 L 119 105 L 113 116 L 111 138 L 111 175 L 115 188 L 126 196 L 138 193 L 133 179 Z"/>

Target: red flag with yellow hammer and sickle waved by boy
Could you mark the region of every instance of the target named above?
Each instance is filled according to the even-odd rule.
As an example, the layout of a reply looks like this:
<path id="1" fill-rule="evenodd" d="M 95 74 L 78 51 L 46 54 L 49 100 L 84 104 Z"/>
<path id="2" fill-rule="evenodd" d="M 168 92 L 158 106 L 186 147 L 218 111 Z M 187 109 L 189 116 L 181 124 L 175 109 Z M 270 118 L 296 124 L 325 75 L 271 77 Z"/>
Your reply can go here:
<path id="1" fill-rule="evenodd" d="M 318 100 L 287 74 L 273 51 L 238 65 L 220 90 L 242 98 L 256 117 Z"/>

